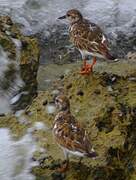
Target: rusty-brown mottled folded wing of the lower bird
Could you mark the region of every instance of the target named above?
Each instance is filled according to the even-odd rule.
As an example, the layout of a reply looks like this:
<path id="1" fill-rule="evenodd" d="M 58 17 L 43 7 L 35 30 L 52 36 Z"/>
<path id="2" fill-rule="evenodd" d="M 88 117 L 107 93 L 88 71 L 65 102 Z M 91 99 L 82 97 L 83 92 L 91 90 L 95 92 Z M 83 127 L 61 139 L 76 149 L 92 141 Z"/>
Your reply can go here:
<path id="1" fill-rule="evenodd" d="M 56 121 L 54 127 L 55 139 L 62 147 L 81 153 L 88 153 L 91 149 L 86 131 L 73 116 L 63 116 L 63 121 Z"/>

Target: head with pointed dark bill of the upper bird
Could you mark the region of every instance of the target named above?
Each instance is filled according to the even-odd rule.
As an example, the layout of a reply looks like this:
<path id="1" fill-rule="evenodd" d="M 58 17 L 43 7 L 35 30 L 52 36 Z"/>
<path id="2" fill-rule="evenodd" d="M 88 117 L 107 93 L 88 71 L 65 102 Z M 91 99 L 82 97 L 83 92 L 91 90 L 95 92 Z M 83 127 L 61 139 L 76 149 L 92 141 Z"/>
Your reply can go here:
<path id="1" fill-rule="evenodd" d="M 82 20 L 83 16 L 77 9 L 71 9 L 67 11 L 66 15 L 59 17 L 58 19 L 68 19 L 70 24 L 76 23 L 79 20 Z"/>

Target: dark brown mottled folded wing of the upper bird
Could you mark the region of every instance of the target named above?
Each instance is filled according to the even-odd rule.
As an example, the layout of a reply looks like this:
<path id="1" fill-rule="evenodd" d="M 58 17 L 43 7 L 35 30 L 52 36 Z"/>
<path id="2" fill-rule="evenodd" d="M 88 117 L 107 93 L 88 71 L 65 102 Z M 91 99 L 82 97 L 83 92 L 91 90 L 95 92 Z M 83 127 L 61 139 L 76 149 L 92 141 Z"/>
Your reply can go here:
<path id="1" fill-rule="evenodd" d="M 75 24 L 71 33 L 71 41 L 76 47 L 88 52 L 105 54 L 108 51 L 108 41 L 99 26 L 84 19 Z"/>

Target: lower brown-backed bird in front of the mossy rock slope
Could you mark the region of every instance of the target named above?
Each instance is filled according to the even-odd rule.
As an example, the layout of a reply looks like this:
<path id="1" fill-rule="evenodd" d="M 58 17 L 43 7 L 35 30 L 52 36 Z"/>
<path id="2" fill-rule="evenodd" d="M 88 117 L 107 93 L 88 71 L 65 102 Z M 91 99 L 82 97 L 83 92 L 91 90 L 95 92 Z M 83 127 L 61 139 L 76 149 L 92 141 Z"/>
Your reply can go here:
<path id="1" fill-rule="evenodd" d="M 68 98 L 59 95 L 55 99 L 55 104 L 59 109 L 59 113 L 54 120 L 53 135 L 56 142 L 63 149 L 66 158 L 66 163 L 61 169 L 64 171 L 69 164 L 69 154 L 90 158 L 95 158 L 97 154 L 92 148 L 85 129 L 72 116 Z"/>

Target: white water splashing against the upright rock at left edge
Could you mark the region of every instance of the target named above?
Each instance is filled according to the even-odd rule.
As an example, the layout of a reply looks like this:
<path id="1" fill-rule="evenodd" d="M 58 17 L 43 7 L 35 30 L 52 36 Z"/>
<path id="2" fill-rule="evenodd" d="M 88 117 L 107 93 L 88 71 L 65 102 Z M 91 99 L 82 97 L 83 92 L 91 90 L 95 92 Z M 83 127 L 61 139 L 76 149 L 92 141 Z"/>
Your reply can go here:
<path id="1" fill-rule="evenodd" d="M 17 58 L 19 60 L 19 50 L 17 51 Z M 6 74 L 8 71 L 14 68 L 14 79 L 10 79 Z M 5 86 L 8 88 L 5 89 Z M 8 113 L 11 111 L 10 105 L 13 95 L 22 87 L 23 81 L 19 74 L 19 65 L 17 62 L 8 58 L 7 53 L 3 51 L 0 46 L 0 114 Z"/>

